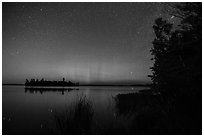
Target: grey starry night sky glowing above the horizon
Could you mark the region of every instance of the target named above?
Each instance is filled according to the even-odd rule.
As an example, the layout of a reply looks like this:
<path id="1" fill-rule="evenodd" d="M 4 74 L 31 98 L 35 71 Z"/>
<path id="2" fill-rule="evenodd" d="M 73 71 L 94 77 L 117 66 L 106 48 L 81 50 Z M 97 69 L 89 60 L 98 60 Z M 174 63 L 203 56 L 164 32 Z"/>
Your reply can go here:
<path id="1" fill-rule="evenodd" d="M 150 82 L 154 20 L 162 3 L 2 4 L 3 83 L 28 78 Z"/>

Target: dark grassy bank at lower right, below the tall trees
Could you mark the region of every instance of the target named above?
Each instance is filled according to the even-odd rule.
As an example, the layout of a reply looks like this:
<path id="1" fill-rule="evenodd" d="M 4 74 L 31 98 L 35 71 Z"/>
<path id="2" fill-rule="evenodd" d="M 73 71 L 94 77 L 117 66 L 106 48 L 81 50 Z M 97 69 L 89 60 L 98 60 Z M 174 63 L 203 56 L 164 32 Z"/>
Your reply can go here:
<path id="1" fill-rule="evenodd" d="M 119 94 L 118 114 L 133 117 L 130 134 L 202 134 L 202 99 L 188 95 Z"/>

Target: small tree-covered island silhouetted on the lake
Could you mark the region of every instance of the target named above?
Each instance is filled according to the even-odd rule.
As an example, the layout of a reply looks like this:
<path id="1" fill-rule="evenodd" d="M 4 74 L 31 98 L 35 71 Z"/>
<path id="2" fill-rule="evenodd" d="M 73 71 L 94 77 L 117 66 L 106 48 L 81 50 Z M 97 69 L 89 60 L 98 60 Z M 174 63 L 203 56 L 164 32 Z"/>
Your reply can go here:
<path id="1" fill-rule="evenodd" d="M 44 80 L 43 78 L 41 80 L 38 79 L 31 79 L 30 81 L 26 79 L 25 86 L 79 86 L 79 83 L 73 83 L 71 81 L 65 81 L 65 78 L 62 79 L 62 81 L 48 81 Z"/>

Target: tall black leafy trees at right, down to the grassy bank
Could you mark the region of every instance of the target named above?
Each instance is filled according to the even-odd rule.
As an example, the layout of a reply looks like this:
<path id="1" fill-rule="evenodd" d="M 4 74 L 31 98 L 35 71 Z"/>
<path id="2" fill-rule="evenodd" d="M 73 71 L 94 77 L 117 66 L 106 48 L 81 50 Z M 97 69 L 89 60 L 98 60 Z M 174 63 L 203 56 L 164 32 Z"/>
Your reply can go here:
<path id="1" fill-rule="evenodd" d="M 202 3 L 176 4 L 170 14 L 181 22 L 173 30 L 171 23 L 155 20 L 150 77 L 157 91 L 184 91 L 184 87 L 198 91 L 202 80 Z"/>

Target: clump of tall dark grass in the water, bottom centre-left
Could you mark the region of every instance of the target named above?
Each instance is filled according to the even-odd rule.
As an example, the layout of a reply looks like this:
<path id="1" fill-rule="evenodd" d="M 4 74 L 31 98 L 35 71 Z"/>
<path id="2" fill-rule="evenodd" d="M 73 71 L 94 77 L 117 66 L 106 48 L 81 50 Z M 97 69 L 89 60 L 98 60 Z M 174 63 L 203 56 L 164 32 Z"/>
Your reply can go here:
<path id="1" fill-rule="evenodd" d="M 82 135 L 91 133 L 94 111 L 86 96 L 81 96 L 76 104 L 65 113 L 55 114 L 56 128 L 50 129 L 51 134 Z"/>

